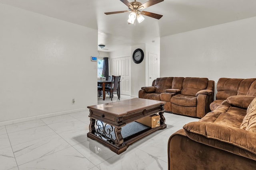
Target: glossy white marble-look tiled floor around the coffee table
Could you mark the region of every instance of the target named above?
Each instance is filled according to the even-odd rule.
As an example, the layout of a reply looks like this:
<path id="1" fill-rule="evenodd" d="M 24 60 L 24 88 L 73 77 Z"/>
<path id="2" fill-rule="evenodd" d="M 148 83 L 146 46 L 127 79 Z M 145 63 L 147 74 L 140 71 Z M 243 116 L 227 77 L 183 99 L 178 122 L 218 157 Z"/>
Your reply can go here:
<path id="1" fill-rule="evenodd" d="M 121 100 L 126 99 L 121 95 Z M 88 115 L 86 110 L 0 126 L 0 170 L 167 170 L 169 137 L 186 123 L 199 120 L 164 113 L 166 129 L 136 141 L 118 155 L 87 137 Z"/>

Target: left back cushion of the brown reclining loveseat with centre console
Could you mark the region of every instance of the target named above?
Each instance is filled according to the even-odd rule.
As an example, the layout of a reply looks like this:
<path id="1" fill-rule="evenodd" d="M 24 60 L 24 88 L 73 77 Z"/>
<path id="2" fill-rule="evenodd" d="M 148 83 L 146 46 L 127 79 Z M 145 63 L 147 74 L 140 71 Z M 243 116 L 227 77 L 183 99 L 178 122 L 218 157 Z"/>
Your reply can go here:
<path id="1" fill-rule="evenodd" d="M 166 89 L 172 88 L 172 80 L 173 80 L 173 77 L 156 78 L 156 81 L 155 81 L 156 93 L 164 93 Z"/>

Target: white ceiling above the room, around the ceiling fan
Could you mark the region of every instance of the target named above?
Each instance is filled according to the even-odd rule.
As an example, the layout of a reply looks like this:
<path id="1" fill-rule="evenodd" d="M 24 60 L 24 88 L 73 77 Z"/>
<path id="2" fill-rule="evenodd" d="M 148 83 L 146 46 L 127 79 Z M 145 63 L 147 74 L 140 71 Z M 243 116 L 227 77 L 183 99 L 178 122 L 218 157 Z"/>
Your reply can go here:
<path id="1" fill-rule="evenodd" d="M 138 1 L 143 4 L 148 0 Z M 256 0 L 164 0 L 145 9 L 163 15 L 160 20 L 145 16 L 136 25 L 128 25 L 129 13 L 104 14 L 128 10 L 120 0 L 0 0 L 0 3 L 98 29 L 98 44 L 109 49 L 99 49 L 104 52 L 256 16 Z"/>

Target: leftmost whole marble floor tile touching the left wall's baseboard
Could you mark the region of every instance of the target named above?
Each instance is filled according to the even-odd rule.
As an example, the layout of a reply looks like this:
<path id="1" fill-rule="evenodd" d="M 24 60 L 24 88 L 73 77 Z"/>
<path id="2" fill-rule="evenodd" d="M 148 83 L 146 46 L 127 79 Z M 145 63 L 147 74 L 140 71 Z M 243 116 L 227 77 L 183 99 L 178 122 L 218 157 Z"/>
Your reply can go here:
<path id="1" fill-rule="evenodd" d="M 41 121 L 40 119 L 32 120 L 32 121 L 25 121 L 21 123 L 14 123 L 12 125 L 6 125 L 6 131 L 7 133 L 12 133 L 16 131 L 22 131 L 25 129 L 30 129 L 34 127 L 44 126 L 45 123 Z"/>

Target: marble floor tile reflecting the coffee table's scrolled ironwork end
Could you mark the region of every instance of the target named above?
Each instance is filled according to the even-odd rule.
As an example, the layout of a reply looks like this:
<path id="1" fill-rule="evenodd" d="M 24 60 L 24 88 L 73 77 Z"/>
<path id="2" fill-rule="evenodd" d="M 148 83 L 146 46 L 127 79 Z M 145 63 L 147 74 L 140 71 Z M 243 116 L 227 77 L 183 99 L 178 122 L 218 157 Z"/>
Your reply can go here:
<path id="1" fill-rule="evenodd" d="M 116 155 L 116 153 L 112 152 L 108 147 L 105 147 L 92 139 L 88 139 L 86 142 L 75 145 L 74 148 L 94 165 L 98 165 Z"/>

